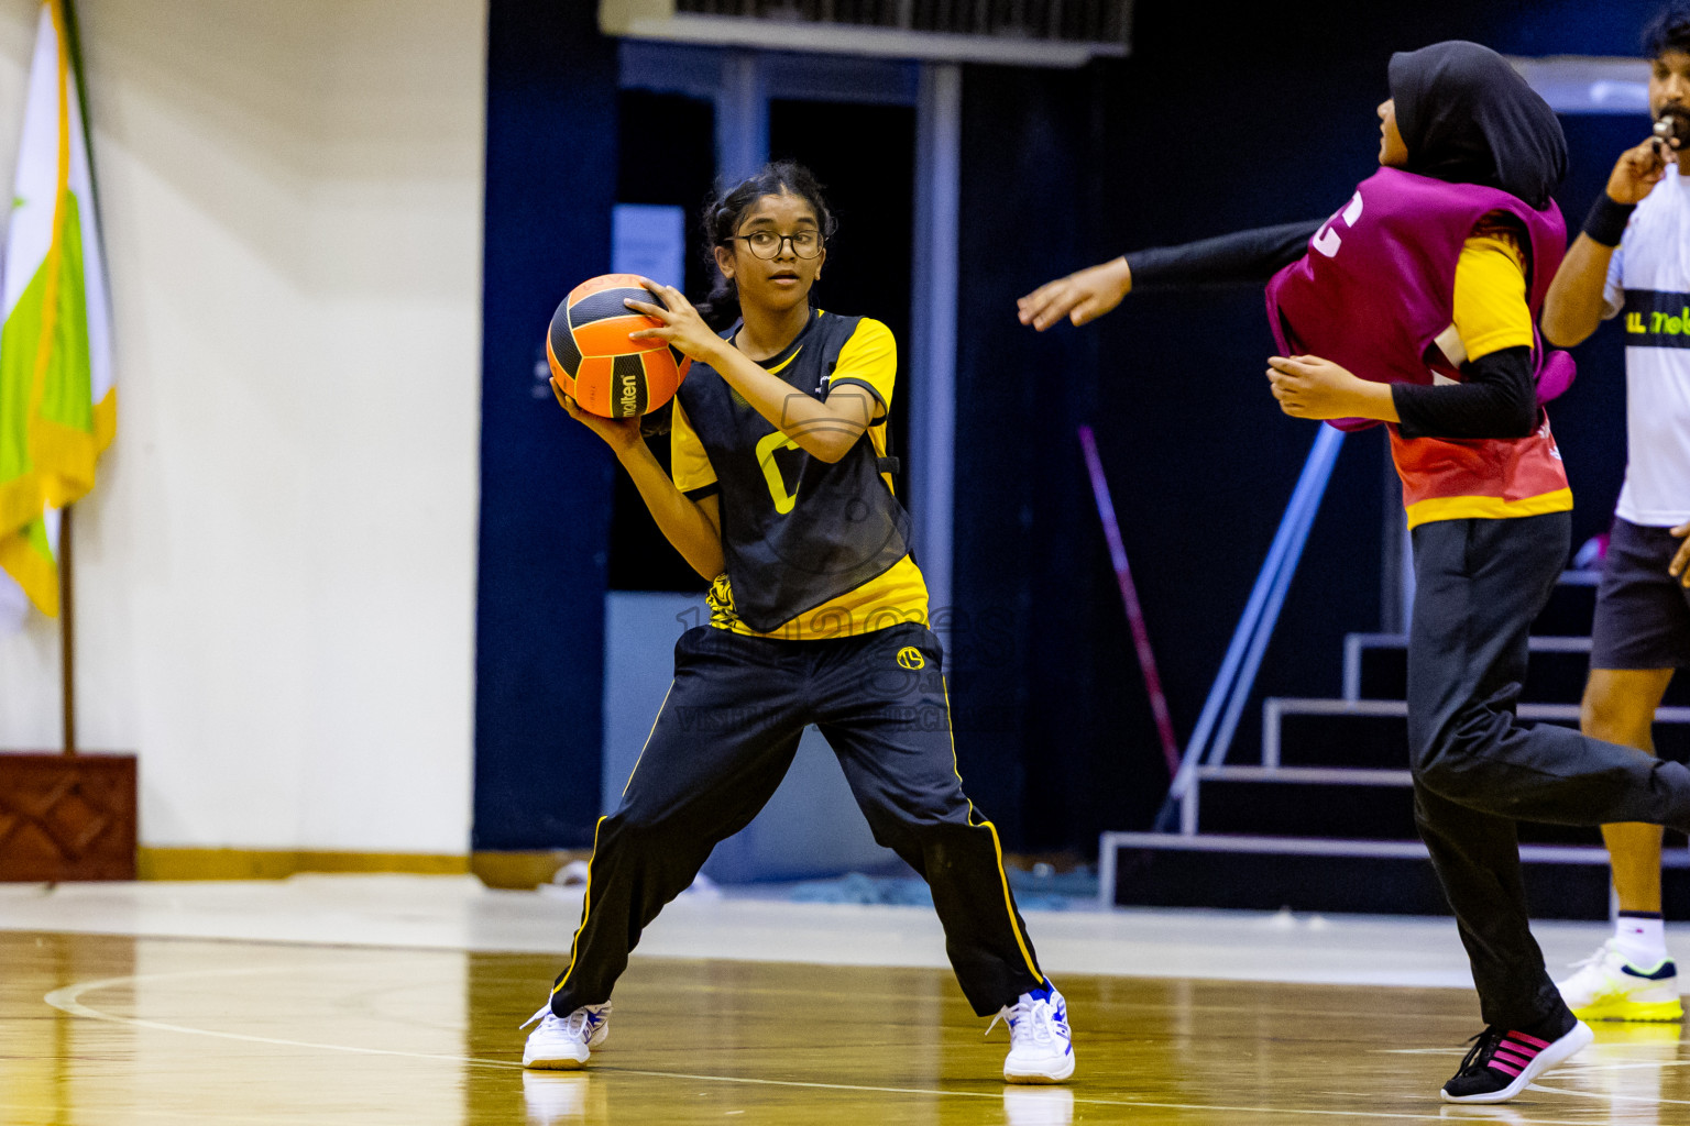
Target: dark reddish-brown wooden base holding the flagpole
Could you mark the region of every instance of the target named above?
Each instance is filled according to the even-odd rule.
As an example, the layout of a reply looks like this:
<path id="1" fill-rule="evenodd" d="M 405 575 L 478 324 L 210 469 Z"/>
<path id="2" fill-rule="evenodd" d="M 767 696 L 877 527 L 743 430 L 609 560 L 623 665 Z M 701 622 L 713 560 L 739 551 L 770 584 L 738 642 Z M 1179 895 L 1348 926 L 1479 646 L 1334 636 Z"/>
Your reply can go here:
<path id="1" fill-rule="evenodd" d="M 134 755 L 0 753 L 0 881 L 134 878 Z"/>

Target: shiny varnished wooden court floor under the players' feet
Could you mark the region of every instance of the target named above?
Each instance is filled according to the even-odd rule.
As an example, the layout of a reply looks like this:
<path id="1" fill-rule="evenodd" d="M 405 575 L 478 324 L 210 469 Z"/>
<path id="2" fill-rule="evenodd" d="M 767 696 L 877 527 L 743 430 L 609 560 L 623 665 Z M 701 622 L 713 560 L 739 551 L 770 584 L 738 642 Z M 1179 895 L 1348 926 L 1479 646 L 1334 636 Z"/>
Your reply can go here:
<path id="1" fill-rule="evenodd" d="M 556 955 L 0 932 L 0 1123 L 1690 1123 L 1676 1025 L 1445 1107 L 1460 989 L 1063 976 L 1078 1072 L 1006 1087 L 938 969 L 635 959 L 585 1074 L 524 1074 Z"/>

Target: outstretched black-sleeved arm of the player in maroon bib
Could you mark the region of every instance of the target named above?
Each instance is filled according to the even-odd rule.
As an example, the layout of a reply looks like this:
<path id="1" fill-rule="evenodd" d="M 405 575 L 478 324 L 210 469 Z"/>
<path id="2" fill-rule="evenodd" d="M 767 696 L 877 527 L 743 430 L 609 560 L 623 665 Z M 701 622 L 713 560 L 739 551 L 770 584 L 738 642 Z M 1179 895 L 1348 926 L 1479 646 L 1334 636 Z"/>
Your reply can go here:
<path id="1" fill-rule="evenodd" d="M 1136 250 L 1039 285 L 1016 302 L 1017 312 L 1022 324 L 1043 333 L 1063 317 L 1073 324 L 1095 321 L 1134 289 L 1266 282 L 1303 257 L 1322 223 L 1281 223 L 1181 246 Z"/>

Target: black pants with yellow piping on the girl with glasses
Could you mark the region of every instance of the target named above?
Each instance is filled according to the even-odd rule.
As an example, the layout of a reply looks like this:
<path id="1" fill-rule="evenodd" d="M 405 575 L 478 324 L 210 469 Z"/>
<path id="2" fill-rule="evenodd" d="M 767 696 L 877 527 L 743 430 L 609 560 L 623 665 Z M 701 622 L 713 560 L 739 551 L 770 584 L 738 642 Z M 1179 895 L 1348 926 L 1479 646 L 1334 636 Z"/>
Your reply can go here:
<path id="1" fill-rule="evenodd" d="M 957 777 L 941 660 L 938 638 L 916 625 L 828 641 L 684 633 L 622 804 L 598 822 L 581 927 L 551 1010 L 566 1016 L 610 998 L 641 932 L 774 795 L 811 723 L 874 839 L 933 888 L 973 1011 L 995 1013 L 1044 984 L 997 829 Z"/>

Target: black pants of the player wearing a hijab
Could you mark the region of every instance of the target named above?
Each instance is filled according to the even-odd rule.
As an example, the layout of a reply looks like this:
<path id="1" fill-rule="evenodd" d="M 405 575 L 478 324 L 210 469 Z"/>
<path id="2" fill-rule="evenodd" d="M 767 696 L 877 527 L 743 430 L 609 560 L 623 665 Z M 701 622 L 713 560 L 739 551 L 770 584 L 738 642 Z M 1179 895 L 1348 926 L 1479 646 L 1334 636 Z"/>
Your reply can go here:
<path id="1" fill-rule="evenodd" d="M 1563 1013 L 1531 937 L 1516 820 L 1690 829 L 1690 770 L 1568 728 L 1514 717 L 1526 635 L 1567 560 L 1568 513 L 1438 520 L 1415 539 L 1408 751 L 1431 851 L 1487 1025 Z"/>

